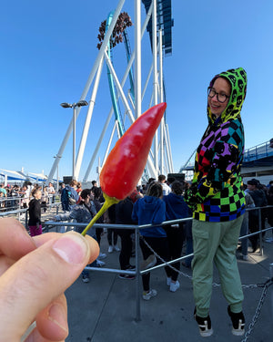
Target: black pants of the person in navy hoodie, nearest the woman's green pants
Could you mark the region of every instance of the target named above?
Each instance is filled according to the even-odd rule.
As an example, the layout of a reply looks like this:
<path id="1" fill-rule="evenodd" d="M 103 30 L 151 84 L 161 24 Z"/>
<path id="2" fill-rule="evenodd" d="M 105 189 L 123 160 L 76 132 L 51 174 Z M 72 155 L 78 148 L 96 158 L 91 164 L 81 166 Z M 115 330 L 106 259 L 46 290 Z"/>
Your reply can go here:
<path id="1" fill-rule="evenodd" d="M 167 233 L 170 260 L 175 260 L 179 258 L 182 254 L 182 247 L 183 247 L 183 242 L 185 239 L 184 224 L 178 223 L 176 224 L 176 226 L 166 225 L 164 226 L 164 228 Z M 180 270 L 179 261 L 175 264 L 172 264 L 172 266 L 177 268 L 178 271 Z M 177 277 L 178 277 L 178 273 L 171 269 L 172 280 L 177 281 Z"/>

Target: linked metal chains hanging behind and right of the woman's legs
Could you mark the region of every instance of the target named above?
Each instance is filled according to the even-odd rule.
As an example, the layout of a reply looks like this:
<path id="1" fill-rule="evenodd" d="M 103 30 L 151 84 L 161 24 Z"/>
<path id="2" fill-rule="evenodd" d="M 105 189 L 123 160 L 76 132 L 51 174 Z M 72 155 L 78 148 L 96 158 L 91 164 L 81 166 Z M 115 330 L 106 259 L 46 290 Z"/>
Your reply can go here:
<path id="1" fill-rule="evenodd" d="M 160 255 L 157 254 L 157 252 L 147 243 L 147 241 L 143 238 L 143 236 L 140 236 L 140 238 L 142 239 L 142 241 L 147 245 L 147 247 L 150 249 L 150 251 L 155 254 L 157 256 L 157 258 L 163 263 L 163 264 L 167 264 L 167 261 L 164 260 Z M 179 275 L 183 275 L 185 276 L 186 278 L 188 279 L 191 279 L 192 280 L 192 276 L 191 275 L 187 275 L 186 273 L 184 272 L 181 272 L 179 270 L 177 270 L 176 267 L 172 266 L 171 264 L 167 264 L 168 267 L 170 267 L 172 270 L 176 271 Z M 249 326 L 248 326 L 248 331 L 247 333 L 245 334 L 245 338 L 241 340 L 241 342 L 247 342 L 248 340 L 248 337 L 250 336 L 252 330 L 253 330 L 253 327 L 255 326 L 256 322 L 258 321 L 258 316 L 261 312 L 261 308 L 264 304 L 264 301 L 265 301 L 265 298 L 266 298 L 266 295 L 268 293 L 268 287 L 270 285 L 273 284 L 273 278 L 271 279 L 268 279 L 266 283 L 264 284 L 250 284 L 250 285 L 242 285 L 243 288 L 258 288 L 258 287 L 263 287 L 263 292 L 262 292 L 262 295 L 259 299 L 259 302 L 258 302 L 258 306 L 257 306 L 257 309 L 256 309 L 256 312 L 251 320 L 251 322 L 249 323 Z M 220 284 L 217 284 L 217 283 L 212 283 L 212 285 L 214 287 L 218 287 L 220 286 Z"/>

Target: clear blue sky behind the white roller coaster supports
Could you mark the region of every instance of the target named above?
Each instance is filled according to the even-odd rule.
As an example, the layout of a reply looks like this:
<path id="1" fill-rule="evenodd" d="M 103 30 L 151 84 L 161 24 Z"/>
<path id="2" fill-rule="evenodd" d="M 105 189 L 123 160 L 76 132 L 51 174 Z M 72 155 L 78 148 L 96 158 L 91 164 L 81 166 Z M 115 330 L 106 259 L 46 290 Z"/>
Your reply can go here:
<path id="1" fill-rule="evenodd" d="M 15 0 L 1 5 L 0 169 L 49 173 L 72 118 L 72 109 L 63 109 L 60 103 L 80 98 L 96 60 L 98 27 L 117 4 L 118 0 Z M 134 22 L 133 0 L 126 0 L 123 11 Z M 164 78 L 175 171 L 197 148 L 206 129 L 209 80 L 227 68 L 244 67 L 248 73 L 242 109 L 246 148 L 273 138 L 272 13 L 271 0 L 172 1 L 173 52 L 164 58 Z M 142 14 L 143 22 L 144 5 Z M 133 27 L 128 29 L 132 49 Z M 142 49 L 144 83 L 152 62 L 147 33 Z M 123 45 L 115 47 L 113 57 L 121 79 L 126 69 Z M 104 67 L 80 180 L 110 108 Z M 82 109 L 77 143 L 85 117 Z M 110 131 L 99 151 L 101 161 Z M 71 165 L 72 137 L 59 164 L 60 175 L 71 174 Z M 90 180 L 96 178 L 96 165 Z"/>

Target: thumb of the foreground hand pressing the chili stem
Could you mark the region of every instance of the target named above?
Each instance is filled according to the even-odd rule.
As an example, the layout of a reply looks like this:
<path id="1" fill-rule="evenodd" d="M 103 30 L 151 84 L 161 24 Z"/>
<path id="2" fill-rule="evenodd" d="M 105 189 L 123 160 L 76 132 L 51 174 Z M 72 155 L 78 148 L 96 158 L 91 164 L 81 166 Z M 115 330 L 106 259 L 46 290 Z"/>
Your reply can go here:
<path id="1" fill-rule="evenodd" d="M 65 233 L 26 254 L 1 275 L 2 340 L 19 340 L 35 316 L 65 292 L 98 251 L 94 239 Z"/>

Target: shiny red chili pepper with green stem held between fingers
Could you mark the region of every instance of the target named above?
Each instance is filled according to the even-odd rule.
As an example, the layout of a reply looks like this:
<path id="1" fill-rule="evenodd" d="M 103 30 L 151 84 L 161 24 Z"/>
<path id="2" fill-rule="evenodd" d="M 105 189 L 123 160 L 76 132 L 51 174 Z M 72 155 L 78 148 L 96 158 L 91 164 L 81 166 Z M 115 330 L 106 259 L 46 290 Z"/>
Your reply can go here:
<path id="1" fill-rule="evenodd" d="M 136 188 L 166 107 L 163 102 L 147 109 L 116 141 L 99 176 L 106 202 L 88 223 L 83 235 L 112 204 L 124 200 Z"/>

